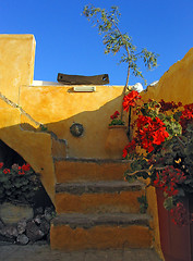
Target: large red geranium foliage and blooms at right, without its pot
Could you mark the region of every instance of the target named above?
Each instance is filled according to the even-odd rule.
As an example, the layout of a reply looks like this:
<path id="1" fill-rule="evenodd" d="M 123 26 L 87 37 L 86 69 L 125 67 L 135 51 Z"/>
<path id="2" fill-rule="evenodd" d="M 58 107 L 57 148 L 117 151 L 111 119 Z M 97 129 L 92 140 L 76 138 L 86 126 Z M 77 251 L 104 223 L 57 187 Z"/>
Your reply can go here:
<path id="1" fill-rule="evenodd" d="M 185 224 L 181 199 L 193 192 L 193 104 L 149 100 L 136 107 L 135 136 L 123 158 L 134 159 L 125 179 L 143 177 L 160 188 L 173 222 Z"/>

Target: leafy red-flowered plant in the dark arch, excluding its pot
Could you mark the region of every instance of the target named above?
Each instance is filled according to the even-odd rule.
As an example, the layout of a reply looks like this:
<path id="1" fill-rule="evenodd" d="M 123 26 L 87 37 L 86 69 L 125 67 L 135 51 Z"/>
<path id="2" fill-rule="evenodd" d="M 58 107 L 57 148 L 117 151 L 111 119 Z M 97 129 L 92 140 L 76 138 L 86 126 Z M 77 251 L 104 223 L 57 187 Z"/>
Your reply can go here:
<path id="1" fill-rule="evenodd" d="M 11 169 L 0 163 L 0 202 L 33 203 L 33 197 L 40 187 L 38 175 L 29 164 L 13 164 Z"/>

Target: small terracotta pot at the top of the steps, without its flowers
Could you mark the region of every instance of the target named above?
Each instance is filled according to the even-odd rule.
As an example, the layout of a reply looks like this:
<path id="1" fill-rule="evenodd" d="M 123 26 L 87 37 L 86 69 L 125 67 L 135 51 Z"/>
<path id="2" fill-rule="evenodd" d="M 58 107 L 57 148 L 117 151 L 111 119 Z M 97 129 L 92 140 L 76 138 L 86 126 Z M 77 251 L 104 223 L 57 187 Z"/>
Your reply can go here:
<path id="1" fill-rule="evenodd" d="M 110 159 L 122 159 L 124 146 L 129 144 L 126 136 L 126 126 L 112 125 L 109 126 L 105 149 Z"/>

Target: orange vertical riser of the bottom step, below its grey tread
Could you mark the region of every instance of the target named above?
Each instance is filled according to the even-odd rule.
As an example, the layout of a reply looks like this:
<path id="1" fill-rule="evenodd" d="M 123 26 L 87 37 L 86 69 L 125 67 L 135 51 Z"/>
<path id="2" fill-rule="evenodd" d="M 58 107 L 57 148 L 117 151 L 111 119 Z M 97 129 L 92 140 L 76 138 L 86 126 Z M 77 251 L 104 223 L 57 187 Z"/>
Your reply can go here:
<path id="1" fill-rule="evenodd" d="M 149 248 L 152 234 L 146 226 L 94 226 L 88 229 L 77 227 L 72 229 L 68 225 L 51 225 L 51 249 L 85 250 L 85 249 L 123 249 Z"/>

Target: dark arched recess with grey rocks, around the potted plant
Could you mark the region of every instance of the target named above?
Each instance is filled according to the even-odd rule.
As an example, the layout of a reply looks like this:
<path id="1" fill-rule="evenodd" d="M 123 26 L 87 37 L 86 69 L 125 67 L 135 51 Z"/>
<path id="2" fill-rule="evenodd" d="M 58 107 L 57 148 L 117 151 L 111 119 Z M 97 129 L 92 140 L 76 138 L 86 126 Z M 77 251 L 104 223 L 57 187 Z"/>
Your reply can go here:
<path id="1" fill-rule="evenodd" d="M 13 164 L 17 164 L 20 166 L 26 164 L 26 161 L 2 140 L 0 140 L 0 162 L 3 162 L 3 167 L 7 169 L 11 169 Z M 31 209 L 33 209 L 31 217 L 22 217 L 22 220 L 17 220 L 16 222 L 11 223 L 9 221 L 7 223 L 5 220 L 10 219 L 10 211 L 5 210 L 8 212 L 8 219 L 5 216 L 3 220 L 2 209 L 7 207 L 4 207 L 4 203 L 12 204 L 12 201 L 4 200 L 1 203 L 0 241 L 9 241 L 20 245 L 26 245 L 28 243 L 39 240 L 46 240 L 49 243 L 50 221 L 55 214 L 55 206 L 52 204 L 41 183 L 39 189 L 35 192 L 33 203 L 29 206 Z M 16 210 L 16 212 L 17 211 L 19 210 Z"/>

